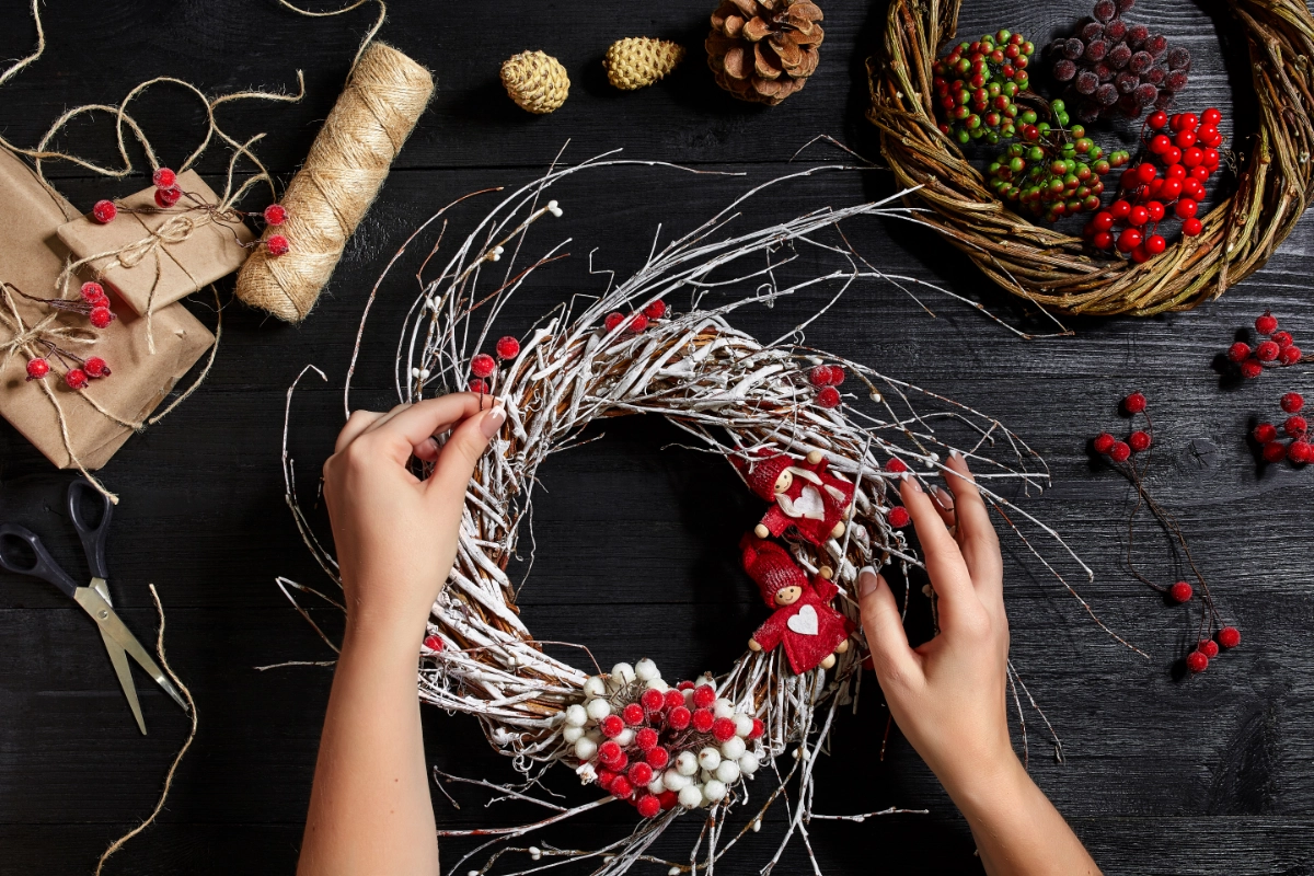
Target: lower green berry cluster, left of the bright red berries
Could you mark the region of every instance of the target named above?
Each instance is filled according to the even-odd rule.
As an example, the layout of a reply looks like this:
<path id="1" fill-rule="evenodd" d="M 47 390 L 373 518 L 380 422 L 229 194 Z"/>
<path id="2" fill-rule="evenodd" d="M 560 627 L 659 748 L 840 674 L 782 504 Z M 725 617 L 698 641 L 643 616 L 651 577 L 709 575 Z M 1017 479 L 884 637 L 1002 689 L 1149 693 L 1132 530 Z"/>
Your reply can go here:
<path id="1" fill-rule="evenodd" d="M 1055 121 L 1066 125 L 1063 101 L 1054 101 L 1051 109 Z M 1018 131 L 1022 142 L 1010 144 L 987 168 L 989 186 L 1001 201 L 1049 222 L 1099 210 L 1100 177 L 1131 159 L 1126 150 L 1105 156 L 1080 125 L 1064 129 L 1024 121 Z"/>

